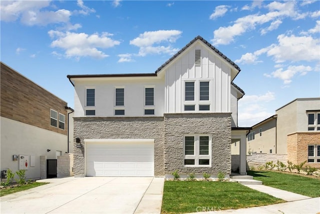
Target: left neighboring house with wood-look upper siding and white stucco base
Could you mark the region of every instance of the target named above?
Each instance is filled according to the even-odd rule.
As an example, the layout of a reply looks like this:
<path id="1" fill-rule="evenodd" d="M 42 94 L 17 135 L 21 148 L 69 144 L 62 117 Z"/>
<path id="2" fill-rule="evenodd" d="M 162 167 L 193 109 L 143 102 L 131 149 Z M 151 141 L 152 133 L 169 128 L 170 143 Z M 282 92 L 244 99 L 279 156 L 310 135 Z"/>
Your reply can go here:
<path id="1" fill-rule="evenodd" d="M 57 159 L 72 152 L 67 138 L 72 109 L 2 62 L 0 71 L 1 171 L 26 169 L 26 178 L 39 179 L 45 156 Z"/>

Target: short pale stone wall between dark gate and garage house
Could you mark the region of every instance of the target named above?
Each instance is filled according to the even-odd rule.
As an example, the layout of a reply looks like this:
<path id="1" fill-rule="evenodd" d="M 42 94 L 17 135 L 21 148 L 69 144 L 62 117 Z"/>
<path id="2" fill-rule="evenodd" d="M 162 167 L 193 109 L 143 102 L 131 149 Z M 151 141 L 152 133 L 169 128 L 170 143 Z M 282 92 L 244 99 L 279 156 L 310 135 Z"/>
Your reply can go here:
<path id="1" fill-rule="evenodd" d="M 65 153 L 57 156 L 56 176 L 68 177 L 73 176 L 73 154 Z"/>

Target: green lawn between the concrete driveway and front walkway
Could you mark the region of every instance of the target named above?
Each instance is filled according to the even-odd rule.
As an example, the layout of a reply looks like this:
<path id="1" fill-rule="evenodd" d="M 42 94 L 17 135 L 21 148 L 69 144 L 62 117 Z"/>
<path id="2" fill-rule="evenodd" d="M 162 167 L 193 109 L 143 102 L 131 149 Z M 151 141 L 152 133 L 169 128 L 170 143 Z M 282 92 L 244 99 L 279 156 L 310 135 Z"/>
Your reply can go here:
<path id="1" fill-rule="evenodd" d="M 236 182 L 165 181 L 161 213 L 237 209 L 285 202 Z"/>

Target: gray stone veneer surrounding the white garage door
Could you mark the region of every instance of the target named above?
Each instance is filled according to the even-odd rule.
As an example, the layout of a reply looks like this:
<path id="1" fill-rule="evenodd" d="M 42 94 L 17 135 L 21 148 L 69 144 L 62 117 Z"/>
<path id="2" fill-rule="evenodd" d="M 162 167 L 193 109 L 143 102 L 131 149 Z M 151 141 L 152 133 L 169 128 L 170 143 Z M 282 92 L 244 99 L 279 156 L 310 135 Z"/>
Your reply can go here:
<path id="1" fill-rule="evenodd" d="M 76 148 L 80 138 L 81 148 Z M 163 172 L 163 117 L 75 117 L 74 176 L 84 174 L 84 139 L 154 139 L 154 175 Z"/>

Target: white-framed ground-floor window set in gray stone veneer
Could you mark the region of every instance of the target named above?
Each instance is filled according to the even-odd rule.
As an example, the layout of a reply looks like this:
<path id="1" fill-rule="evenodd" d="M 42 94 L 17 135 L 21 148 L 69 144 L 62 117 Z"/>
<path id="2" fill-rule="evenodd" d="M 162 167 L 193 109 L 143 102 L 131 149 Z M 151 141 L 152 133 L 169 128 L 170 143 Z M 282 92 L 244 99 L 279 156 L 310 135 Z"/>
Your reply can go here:
<path id="1" fill-rule="evenodd" d="M 206 134 L 183 136 L 183 164 L 186 167 L 211 166 L 211 136 Z"/>

